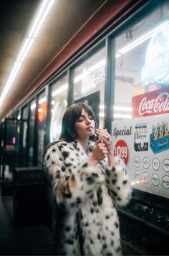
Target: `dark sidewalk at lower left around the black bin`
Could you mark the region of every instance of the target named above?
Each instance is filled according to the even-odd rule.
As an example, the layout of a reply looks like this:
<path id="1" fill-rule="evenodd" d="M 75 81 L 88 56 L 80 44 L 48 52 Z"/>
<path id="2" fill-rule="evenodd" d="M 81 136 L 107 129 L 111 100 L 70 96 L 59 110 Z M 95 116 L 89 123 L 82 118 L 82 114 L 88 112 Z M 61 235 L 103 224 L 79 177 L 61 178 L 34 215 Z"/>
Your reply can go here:
<path id="1" fill-rule="evenodd" d="M 1 186 L 0 186 L 1 192 Z M 0 196 L 0 255 L 51 255 L 52 233 L 46 225 L 16 227 L 13 196 Z"/>

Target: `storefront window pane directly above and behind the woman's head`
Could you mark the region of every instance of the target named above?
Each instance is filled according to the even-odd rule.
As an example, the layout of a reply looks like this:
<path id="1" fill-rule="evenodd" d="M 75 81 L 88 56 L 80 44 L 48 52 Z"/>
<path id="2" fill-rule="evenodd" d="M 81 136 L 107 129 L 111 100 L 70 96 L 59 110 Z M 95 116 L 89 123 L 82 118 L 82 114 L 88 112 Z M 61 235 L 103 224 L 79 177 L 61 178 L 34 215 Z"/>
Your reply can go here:
<path id="1" fill-rule="evenodd" d="M 105 47 L 74 70 L 74 102 L 89 104 L 98 125 L 104 124 Z"/>

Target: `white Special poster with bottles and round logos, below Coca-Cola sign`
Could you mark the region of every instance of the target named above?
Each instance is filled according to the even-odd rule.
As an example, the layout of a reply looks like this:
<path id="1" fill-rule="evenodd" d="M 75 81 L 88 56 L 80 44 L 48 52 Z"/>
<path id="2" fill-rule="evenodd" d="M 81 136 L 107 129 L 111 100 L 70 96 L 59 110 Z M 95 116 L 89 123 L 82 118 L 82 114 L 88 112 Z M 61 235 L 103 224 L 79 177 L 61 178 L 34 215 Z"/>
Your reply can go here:
<path id="1" fill-rule="evenodd" d="M 125 162 L 132 187 L 169 198 L 169 114 L 115 120 L 113 150 Z"/>

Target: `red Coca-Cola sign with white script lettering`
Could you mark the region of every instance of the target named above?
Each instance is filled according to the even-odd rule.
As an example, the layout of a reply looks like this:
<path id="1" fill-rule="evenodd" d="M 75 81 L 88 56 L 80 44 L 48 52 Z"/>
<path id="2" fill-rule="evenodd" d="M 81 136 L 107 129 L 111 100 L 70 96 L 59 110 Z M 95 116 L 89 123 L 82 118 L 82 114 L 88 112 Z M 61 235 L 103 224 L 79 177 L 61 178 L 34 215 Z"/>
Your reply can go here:
<path id="1" fill-rule="evenodd" d="M 169 113 L 169 87 L 132 97 L 132 117 Z"/>

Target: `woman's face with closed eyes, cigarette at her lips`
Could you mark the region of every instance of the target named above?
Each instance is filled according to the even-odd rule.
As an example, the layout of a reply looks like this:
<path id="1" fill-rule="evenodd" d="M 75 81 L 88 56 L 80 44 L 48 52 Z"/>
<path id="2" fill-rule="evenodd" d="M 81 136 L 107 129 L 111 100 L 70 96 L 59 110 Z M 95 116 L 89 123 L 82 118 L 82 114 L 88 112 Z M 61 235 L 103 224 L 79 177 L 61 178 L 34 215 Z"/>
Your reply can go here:
<path id="1" fill-rule="evenodd" d="M 74 131 L 77 134 L 77 138 L 89 138 L 92 136 L 90 128 L 95 131 L 95 121 L 93 120 L 92 115 L 89 115 L 82 109 L 81 115 L 74 123 Z"/>

